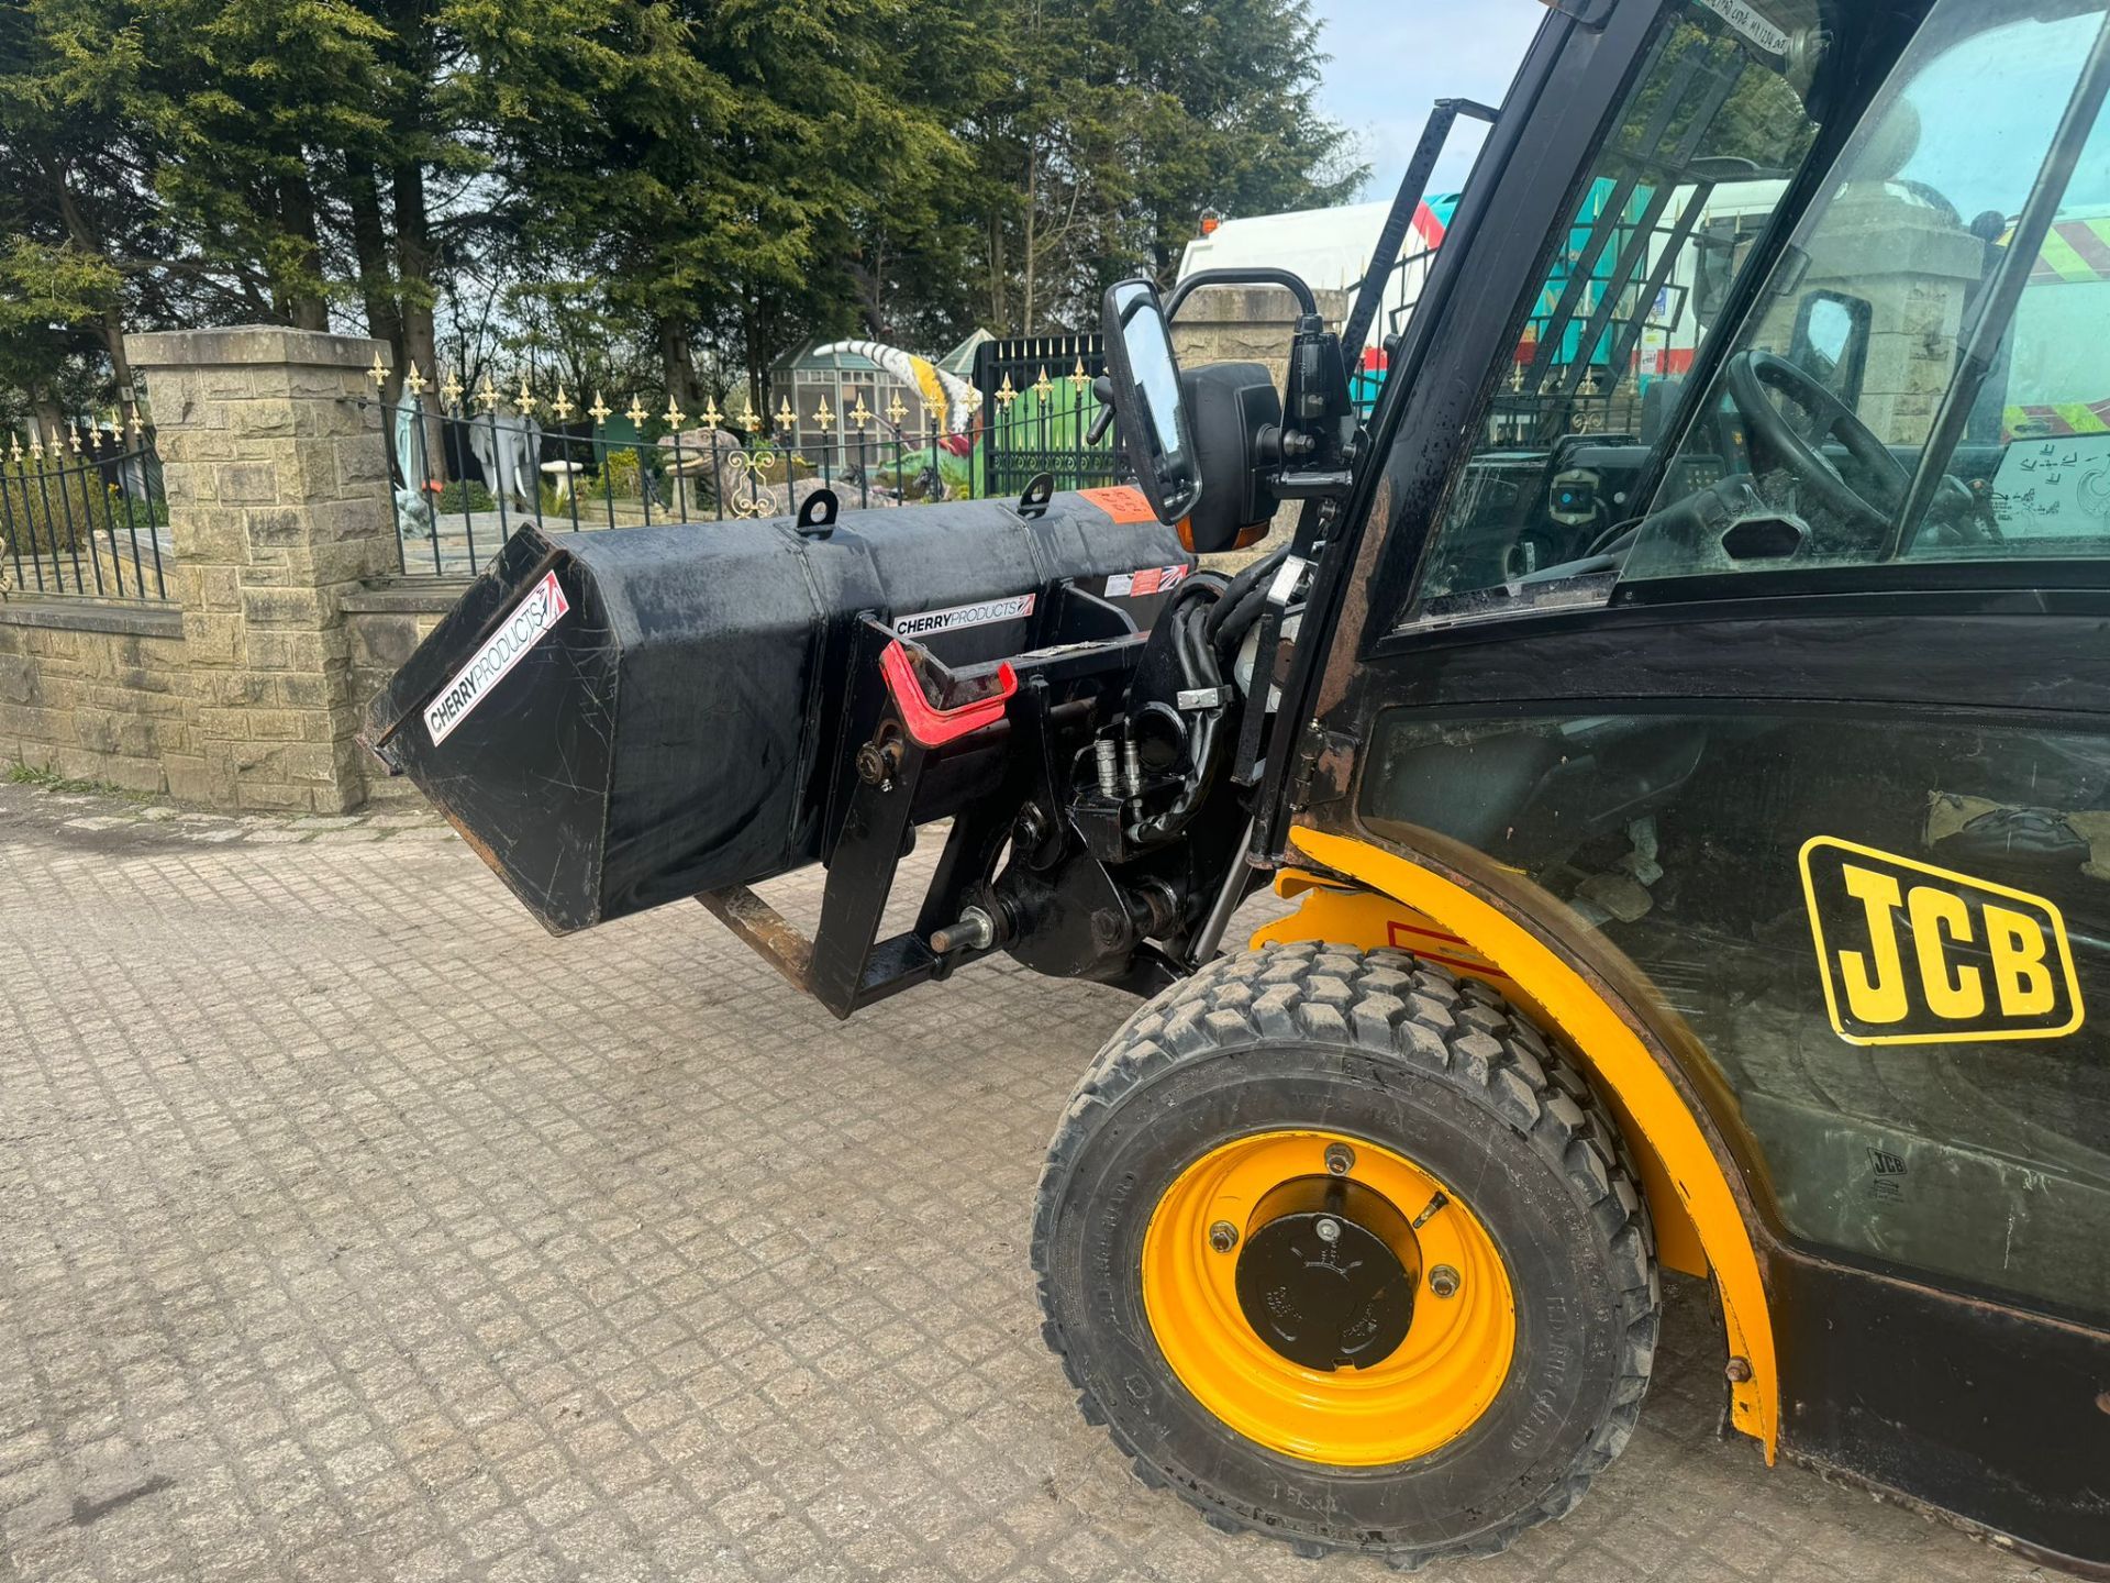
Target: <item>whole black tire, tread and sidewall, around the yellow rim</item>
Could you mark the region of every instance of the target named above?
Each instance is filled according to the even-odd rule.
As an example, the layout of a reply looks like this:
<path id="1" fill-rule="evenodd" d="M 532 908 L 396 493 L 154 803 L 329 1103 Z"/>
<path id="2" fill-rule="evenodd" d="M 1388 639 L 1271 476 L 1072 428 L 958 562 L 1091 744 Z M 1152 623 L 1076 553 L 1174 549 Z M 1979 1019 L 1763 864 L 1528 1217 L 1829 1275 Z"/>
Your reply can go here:
<path id="1" fill-rule="evenodd" d="M 1283 1127 L 1361 1133 L 1469 1188 L 1502 1254 L 1511 1372 L 1428 1456 L 1272 1452 L 1196 1401 L 1152 1338 L 1152 1205 L 1211 1148 Z M 1146 1005 L 1078 1085 L 1034 1216 L 1042 1334 L 1087 1420 L 1217 1528 L 1409 1570 L 1492 1556 L 1574 1507 L 1633 1433 L 1661 1307 L 1635 1182 L 1576 1068 L 1488 986 L 1405 952 L 1270 946 Z"/>

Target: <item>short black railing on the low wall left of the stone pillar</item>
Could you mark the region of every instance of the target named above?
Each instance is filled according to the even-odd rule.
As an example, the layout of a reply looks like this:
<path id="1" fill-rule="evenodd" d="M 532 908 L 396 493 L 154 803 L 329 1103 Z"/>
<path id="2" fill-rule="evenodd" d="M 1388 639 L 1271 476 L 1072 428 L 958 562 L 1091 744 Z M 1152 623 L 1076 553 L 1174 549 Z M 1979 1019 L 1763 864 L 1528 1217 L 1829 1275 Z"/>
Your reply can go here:
<path id="1" fill-rule="evenodd" d="M 154 431 L 70 424 L 0 452 L 0 570 L 17 595 L 167 599 Z"/>

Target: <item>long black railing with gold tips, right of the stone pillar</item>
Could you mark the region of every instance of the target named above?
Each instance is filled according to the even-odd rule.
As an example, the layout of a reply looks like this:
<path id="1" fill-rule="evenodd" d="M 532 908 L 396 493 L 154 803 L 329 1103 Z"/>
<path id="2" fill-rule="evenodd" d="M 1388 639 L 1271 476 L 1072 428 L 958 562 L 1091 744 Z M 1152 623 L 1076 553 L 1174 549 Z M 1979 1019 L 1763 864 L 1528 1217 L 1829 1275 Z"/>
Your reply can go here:
<path id="1" fill-rule="evenodd" d="M 671 403 L 658 414 L 637 401 L 616 412 L 599 397 L 580 407 L 563 386 L 540 399 L 525 384 L 471 395 L 449 380 L 435 393 L 416 371 L 405 384 L 395 401 L 363 405 L 382 409 L 407 574 L 481 570 L 528 521 L 595 532 L 783 517 L 814 490 L 852 509 L 975 494 L 973 439 L 901 403 L 859 403 L 793 435 L 783 416 L 749 409 L 728 422 L 715 403 L 690 418 Z"/>

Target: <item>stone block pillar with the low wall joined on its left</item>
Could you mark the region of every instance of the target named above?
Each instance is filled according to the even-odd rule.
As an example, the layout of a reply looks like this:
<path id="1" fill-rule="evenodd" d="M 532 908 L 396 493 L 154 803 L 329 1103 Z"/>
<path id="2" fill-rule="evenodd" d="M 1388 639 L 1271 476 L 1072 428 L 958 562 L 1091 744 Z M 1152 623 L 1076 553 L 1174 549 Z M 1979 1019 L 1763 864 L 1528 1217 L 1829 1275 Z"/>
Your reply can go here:
<path id="1" fill-rule="evenodd" d="M 344 599 L 397 570 L 380 344 L 135 336 L 169 498 L 167 604 L 0 604 L 0 760 L 228 810 L 365 798 Z"/>

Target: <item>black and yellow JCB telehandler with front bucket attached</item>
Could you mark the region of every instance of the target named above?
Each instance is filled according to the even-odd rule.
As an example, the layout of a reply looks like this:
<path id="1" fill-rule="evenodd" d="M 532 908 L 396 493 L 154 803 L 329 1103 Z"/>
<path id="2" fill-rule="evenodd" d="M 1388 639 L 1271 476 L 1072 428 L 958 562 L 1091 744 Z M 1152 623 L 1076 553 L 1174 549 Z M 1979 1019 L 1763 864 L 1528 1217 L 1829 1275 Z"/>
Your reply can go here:
<path id="1" fill-rule="evenodd" d="M 698 897 L 838 1015 L 994 952 L 1144 996 L 1032 1262 L 1217 1526 L 1566 1513 L 1669 1269 L 1766 1458 L 2110 1577 L 2106 89 L 2110 0 L 1555 0 L 1340 333 L 1232 276 L 1302 302 L 1285 390 L 1177 367 L 1220 276 L 1108 293 L 1135 488 L 523 530 L 369 741 L 555 931 Z M 747 889 L 804 863 L 810 937 Z"/>

